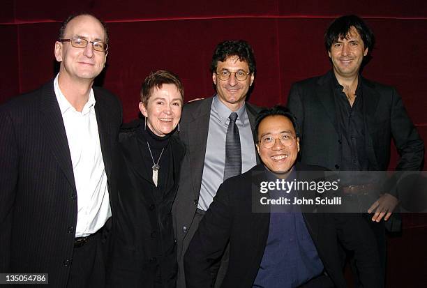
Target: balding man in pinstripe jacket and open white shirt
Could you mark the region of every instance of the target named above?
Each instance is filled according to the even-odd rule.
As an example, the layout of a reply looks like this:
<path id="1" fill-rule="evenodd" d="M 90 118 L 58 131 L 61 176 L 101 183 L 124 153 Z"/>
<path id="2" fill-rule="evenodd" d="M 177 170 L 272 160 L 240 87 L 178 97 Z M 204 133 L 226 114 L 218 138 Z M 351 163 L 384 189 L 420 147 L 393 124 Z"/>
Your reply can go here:
<path id="1" fill-rule="evenodd" d="M 119 99 L 93 86 L 107 43 L 96 17 L 68 17 L 52 37 L 58 75 L 0 107 L 1 273 L 47 273 L 52 287 L 105 287 L 112 147 L 122 118 Z"/>

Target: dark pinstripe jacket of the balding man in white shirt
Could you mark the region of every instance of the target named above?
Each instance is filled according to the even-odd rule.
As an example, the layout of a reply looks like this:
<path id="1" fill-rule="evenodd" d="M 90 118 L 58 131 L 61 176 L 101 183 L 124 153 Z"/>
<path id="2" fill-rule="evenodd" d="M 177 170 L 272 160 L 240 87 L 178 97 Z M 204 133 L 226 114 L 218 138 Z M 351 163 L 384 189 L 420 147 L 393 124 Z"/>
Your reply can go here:
<path id="1" fill-rule="evenodd" d="M 105 172 L 111 179 L 121 104 L 105 89 L 93 91 Z M 0 272 L 49 273 L 52 287 L 65 287 L 73 259 L 77 191 L 53 81 L 0 107 L 0 159 Z"/>

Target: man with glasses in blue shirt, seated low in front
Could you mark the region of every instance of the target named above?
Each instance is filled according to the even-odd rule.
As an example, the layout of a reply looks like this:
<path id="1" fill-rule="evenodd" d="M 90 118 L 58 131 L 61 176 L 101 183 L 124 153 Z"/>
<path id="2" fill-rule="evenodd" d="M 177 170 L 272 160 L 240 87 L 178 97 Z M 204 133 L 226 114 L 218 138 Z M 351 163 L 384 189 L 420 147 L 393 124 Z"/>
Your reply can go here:
<path id="1" fill-rule="evenodd" d="M 255 135 L 262 164 L 220 185 L 184 257 L 187 287 L 211 287 L 216 275 L 212 264 L 228 241 L 224 288 L 347 287 L 338 241 L 354 251 L 363 286 L 383 287 L 375 238 L 359 215 L 315 213 L 319 209 L 315 205 L 260 207 L 264 195 L 285 195 L 271 185 L 268 193 L 260 194 L 266 181 L 325 178 L 324 168 L 295 163 L 300 134 L 287 108 L 262 110 L 255 121 Z M 316 195 L 310 190 L 290 193 Z"/>

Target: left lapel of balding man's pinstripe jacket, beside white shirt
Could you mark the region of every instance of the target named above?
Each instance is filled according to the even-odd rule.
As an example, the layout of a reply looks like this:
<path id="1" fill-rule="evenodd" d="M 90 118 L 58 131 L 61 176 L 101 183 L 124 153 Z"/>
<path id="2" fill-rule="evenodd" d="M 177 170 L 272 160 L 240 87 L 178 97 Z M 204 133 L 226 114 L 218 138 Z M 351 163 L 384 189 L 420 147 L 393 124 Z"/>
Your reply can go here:
<path id="1" fill-rule="evenodd" d="M 65 126 L 59 109 L 57 96 L 54 92 L 53 81 L 43 86 L 42 98 L 40 99 L 40 112 L 43 114 L 43 131 L 46 143 L 50 146 L 50 151 L 57 160 L 59 167 L 66 176 L 73 190 L 75 179 L 73 173 L 73 163 L 71 162 L 70 148 Z"/>

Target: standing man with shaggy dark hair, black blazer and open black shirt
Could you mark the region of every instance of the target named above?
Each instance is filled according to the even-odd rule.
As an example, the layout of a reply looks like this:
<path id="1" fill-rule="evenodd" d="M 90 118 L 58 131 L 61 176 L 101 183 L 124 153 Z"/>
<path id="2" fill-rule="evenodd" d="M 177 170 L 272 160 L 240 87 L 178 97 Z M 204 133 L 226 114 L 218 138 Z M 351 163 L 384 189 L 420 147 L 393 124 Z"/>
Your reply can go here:
<path id="1" fill-rule="evenodd" d="M 382 188 L 377 174 L 368 171 L 387 170 L 391 137 L 400 154 L 396 170 L 420 169 L 424 142 L 396 89 L 361 76 L 374 43 L 373 32 L 361 18 L 347 15 L 334 20 L 324 36 L 332 70 L 295 83 L 287 106 L 301 126 L 301 162 L 351 171 L 352 176 L 341 183 L 347 197 L 364 201 L 363 195 L 379 194 L 360 209 L 377 238 L 385 273 L 384 221 L 398 199 L 396 190 Z M 396 229 L 391 221 L 388 224 Z"/>

